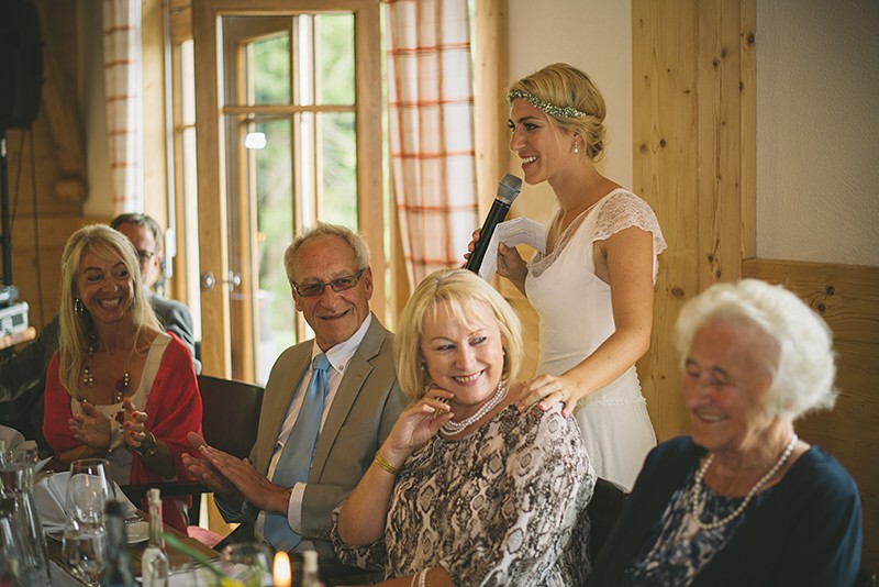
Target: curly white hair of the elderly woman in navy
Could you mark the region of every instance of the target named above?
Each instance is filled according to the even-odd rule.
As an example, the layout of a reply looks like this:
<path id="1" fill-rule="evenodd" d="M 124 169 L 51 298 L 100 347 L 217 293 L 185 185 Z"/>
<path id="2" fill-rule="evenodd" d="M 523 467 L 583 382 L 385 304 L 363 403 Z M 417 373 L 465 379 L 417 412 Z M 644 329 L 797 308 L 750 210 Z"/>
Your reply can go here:
<path id="1" fill-rule="evenodd" d="M 809 306 L 781 286 L 759 279 L 715 284 L 681 308 L 675 324 L 675 346 L 681 365 L 697 332 L 708 324 L 742 324 L 758 329 L 778 345 L 767 357 L 772 376 L 765 409 L 795 420 L 836 401 L 836 365 L 830 328 Z"/>

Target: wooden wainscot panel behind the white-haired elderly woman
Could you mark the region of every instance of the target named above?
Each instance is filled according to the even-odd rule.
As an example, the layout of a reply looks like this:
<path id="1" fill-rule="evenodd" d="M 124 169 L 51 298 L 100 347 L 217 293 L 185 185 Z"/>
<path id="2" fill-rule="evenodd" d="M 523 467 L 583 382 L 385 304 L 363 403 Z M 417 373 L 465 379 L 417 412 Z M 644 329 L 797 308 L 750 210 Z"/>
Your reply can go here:
<path id="1" fill-rule="evenodd" d="M 797 431 L 822 446 L 858 484 L 864 508 L 864 564 L 879 567 L 879 267 L 749 259 L 743 276 L 781 284 L 833 330 L 839 397 L 830 412 L 805 417 Z"/>

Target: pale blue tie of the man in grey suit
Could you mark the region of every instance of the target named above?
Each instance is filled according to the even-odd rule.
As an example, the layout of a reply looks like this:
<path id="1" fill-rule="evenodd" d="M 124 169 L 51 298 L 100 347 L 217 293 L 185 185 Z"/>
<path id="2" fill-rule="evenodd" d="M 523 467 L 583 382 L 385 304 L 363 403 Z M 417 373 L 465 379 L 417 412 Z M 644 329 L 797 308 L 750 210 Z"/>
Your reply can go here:
<path id="1" fill-rule="evenodd" d="M 311 367 L 311 380 L 305 390 L 302 408 L 300 408 L 293 430 L 290 431 L 290 436 L 283 445 L 278 465 L 275 467 L 275 475 L 271 477 L 271 483 L 282 487 L 292 487 L 297 483 L 308 481 L 311 459 L 314 456 L 314 448 L 321 432 L 321 418 L 326 401 L 326 391 L 330 387 L 326 376 L 330 361 L 326 355 L 321 353 L 314 357 Z M 290 530 L 287 511 L 266 513 L 264 535 L 269 544 L 279 551 L 287 552 L 294 549 L 302 540 L 299 534 Z"/>

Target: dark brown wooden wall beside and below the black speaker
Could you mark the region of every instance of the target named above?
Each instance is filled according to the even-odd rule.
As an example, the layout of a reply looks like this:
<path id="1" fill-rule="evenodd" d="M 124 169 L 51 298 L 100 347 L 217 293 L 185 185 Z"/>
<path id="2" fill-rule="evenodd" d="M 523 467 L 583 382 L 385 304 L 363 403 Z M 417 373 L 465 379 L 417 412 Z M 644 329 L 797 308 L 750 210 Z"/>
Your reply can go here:
<path id="1" fill-rule="evenodd" d="M 58 309 L 60 254 L 84 221 L 85 151 L 76 119 L 76 3 L 37 3 L 46 80 L 30 129 L 7 132 L 12 284 L 37 331 Z"/>

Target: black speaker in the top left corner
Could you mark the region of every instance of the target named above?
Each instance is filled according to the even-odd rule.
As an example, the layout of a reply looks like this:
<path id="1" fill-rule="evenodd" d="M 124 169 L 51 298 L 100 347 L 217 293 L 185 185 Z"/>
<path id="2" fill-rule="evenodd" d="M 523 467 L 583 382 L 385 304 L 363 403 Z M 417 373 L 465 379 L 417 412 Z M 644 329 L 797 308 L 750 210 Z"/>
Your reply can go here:
<path id="1" fill-rule="evenodd" d="M 0 130 L 30 129 L 40 112 L 43 41 L 31 0 L 0 0 Z"/>

